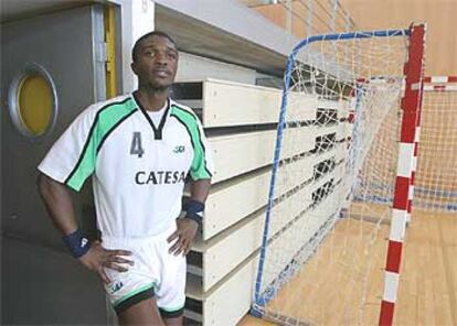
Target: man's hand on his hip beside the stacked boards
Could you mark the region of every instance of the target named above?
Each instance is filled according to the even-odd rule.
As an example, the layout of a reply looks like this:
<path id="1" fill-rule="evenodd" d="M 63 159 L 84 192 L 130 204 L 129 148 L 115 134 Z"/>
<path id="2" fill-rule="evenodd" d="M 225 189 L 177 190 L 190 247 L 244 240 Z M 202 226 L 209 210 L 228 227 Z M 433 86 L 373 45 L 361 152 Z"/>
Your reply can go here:
<path id="1" fill-rule="evenodd" d="M 177 225 L 177 230 L 167 239 L 168 242 L 176 240 L 169 252 L 174 256 L 182 252 L 185 256 L 189 253 L 192 241 L 195 238 L 199 224 L 190 218 L 179 218 Z"/>

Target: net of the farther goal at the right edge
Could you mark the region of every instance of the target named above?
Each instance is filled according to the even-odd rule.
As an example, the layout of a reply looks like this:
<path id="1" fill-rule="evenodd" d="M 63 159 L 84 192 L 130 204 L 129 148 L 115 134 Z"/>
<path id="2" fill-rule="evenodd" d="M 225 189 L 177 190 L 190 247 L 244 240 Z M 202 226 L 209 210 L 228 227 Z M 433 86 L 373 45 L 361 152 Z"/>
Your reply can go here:
<path id="1" fill-rule="evenodd" d="M 426 90 L 414 209 L 457 214 L 457 84 Z"/>

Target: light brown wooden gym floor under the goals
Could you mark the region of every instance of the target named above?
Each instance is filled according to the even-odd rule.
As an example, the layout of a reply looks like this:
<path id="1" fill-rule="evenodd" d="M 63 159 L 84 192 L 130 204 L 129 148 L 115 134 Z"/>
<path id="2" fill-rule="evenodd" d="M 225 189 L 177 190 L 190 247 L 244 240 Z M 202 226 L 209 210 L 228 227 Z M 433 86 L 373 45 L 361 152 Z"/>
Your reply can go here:
<path id="1" fill-rule="evenodd" d="M 375 229 L 373 222 L 341 220 L 269 308 L 318 325 L 378 325 L 387 237 L 386 225 Z M 366 260 L 366 254 L 374 259 Z M 360 302 L 362 308 L 354 304 Z M 456 214 L 413 215 L 394 324 L 457 326 Z M 238 325 L 274 324 L 245 316 Z"/>

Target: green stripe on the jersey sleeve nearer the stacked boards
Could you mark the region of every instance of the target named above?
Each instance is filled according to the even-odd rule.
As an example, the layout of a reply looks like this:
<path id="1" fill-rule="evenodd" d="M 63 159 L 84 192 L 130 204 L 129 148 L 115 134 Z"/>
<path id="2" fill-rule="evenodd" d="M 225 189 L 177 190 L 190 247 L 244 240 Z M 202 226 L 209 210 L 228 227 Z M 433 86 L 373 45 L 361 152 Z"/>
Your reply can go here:
<path id="1" fill-rule="evenodd" d="M 193 146 L 193 160 L 190 174 L 193 180 L 211 178 L 211 172 L 206 166 L 205 148 L 200 135 L 200 128 L 196 117 L 176 105 L 171 106 L 171 117 L 178 119 L 189 132 Z"/>

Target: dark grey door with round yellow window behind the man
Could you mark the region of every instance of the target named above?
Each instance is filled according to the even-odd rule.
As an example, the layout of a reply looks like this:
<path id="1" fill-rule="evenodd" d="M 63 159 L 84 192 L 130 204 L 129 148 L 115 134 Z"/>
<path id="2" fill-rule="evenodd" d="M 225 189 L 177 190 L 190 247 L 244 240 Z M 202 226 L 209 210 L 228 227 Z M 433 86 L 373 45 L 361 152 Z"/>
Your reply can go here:
<path id="1" fill-rule="evenodd" d="M 103 8 L 35 15 L 3 23 L 1 31 L 1 322 L 107 324 L 100 282 L 71 258 L 35 185 L 36 165 L 52 143 L 82 109 L 105 97 Z M 94 233 L 91 185 L 74 197 L 79 225 Z"/>

